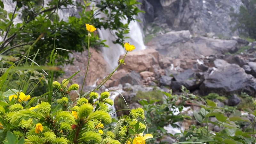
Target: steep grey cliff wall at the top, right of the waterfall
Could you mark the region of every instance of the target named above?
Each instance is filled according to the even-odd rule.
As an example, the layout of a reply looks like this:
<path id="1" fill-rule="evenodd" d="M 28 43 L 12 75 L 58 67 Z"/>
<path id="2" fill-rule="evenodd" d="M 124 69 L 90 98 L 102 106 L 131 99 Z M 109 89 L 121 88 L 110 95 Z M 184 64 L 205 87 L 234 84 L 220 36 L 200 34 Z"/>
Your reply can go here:
<path id="1" fill-rule="evenodd" d="M 154 22 L 167 24 L 174 30 L 189 30 L 193 34 L 205 35 L 213 33 L 218 36 L 238 35 L 230 27 L 231 9 L 238 12 L 241 0 L 143 0 L 146 11 L 146 21 L 152 21 L 152 13 L 148 10 L 154 7 Z M 151 11 L 152 12 L 152 11 Z"/>

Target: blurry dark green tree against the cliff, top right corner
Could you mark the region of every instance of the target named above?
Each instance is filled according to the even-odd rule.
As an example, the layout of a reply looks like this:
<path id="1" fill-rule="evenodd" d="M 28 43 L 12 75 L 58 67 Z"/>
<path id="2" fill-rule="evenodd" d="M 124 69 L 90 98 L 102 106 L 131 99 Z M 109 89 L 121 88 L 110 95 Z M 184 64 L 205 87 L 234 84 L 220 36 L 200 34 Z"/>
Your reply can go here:
<path id="1" fill-rule="evenodd" d="M 232 30 L 238 30 L 240 35 L 256 39 L 256 0 L 244 1 L 238 13 L 231 11 L 230 16 L 235 26 Z"/>

